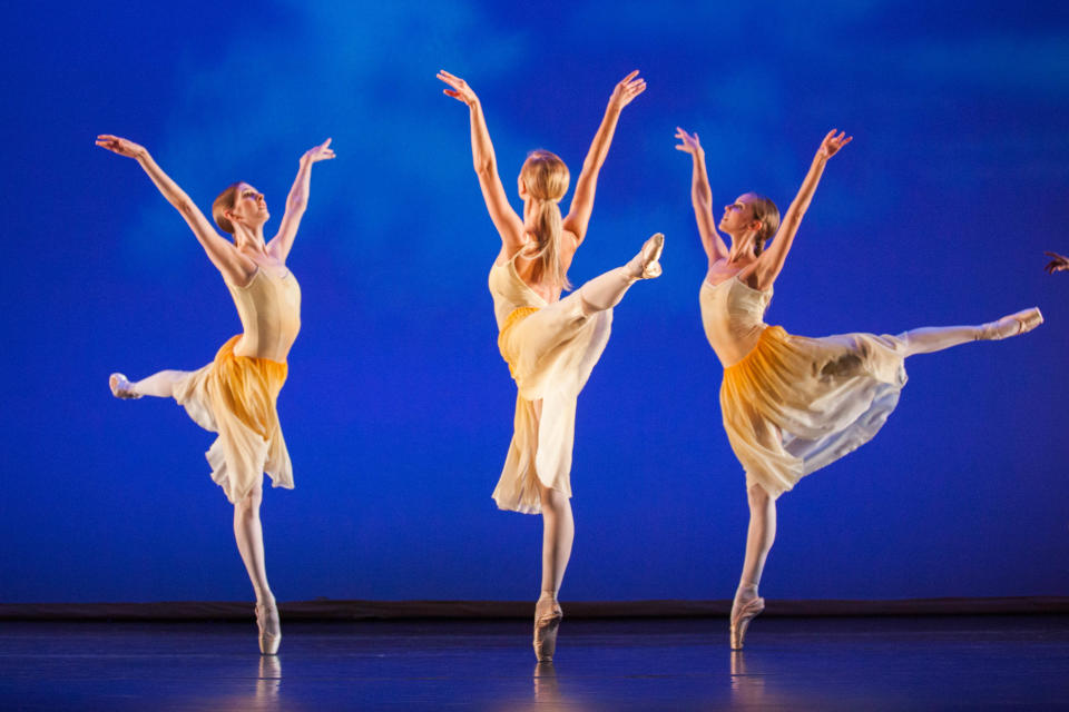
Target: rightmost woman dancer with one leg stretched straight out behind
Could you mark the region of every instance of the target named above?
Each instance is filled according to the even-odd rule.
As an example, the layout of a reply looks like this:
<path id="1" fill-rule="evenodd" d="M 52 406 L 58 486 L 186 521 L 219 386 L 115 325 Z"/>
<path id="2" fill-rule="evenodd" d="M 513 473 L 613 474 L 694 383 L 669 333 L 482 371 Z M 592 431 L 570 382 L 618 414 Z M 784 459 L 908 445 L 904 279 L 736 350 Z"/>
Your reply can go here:
<path id="1" fill-rule="evenodd" d="M 709 260 L 699 295 L 702 322 L 724 366 L 724 428 L 746 471 L 749 527 L 729 635 L 732 649 L 739 650 L 749 622 L 765 607 L 757 584 L 776 534 L 776 498 L 876 434 L 905 385 L 905 357 L 1016 336 L 1043 319 L 1032 308 L 980 326 L 825 338 L 792 336 L 768 326 L 764 313 L 802 216 L 827 160 L 851 138 L 834 129 L 824 137 L 782 222 L 772 200 L 753 192 L 725 206 L 719 229 L 730 244 L 717 233 L 713 218 L 697 134 L 677 129 L 676 138 L 680 141 L 676 148 L 694 160 L 694 214 Z M 773 240 L 766 247 L 768 238 Z"/>

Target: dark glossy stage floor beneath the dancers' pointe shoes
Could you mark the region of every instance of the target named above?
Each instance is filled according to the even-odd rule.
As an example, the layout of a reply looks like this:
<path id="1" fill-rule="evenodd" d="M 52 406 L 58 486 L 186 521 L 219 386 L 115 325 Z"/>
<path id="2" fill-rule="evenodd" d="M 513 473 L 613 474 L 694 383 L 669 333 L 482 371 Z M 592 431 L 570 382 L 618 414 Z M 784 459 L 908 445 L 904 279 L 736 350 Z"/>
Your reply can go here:
<path id="1" fill-rule="evenodd" d="M 555 665 L 521 621 L 0 623 L 3 710 L 1069 708 L 1069 616 L 565 620 Z"/>

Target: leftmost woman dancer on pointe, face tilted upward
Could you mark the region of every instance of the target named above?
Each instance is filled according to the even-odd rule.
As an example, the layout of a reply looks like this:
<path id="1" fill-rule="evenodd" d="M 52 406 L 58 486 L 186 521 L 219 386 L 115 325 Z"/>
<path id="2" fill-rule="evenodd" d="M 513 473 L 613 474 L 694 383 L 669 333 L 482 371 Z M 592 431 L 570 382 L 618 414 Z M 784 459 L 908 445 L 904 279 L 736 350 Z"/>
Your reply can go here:
<path id="1" fill-rule="evenodd" d="M 174 398 L 195 423 L 218 433 L 207 452 L 212 478 L 234 505 L 237 550 L 256 592 L 259 650 L 275 654 L 282 631 L 275 596 L 267 585 L 259 504 L 265 472 L 273 486 L 293 488 L 293 467 L 275 407 L 286 379 L 286 356 L 301 328 L 301 287 L 286 268 L 286 256 L 307 206 L 312 165 L 334 158 L 331 139 L 301 157 L 282 225 L 269 241 L 264 239 L 269 215 L 263 194 L 247 182 L 236 182 L 219 194 L 212 216 L 233 236 L 233 243 L 212 227 L 143 146 L 110 135 L 98 136 L 97 146 L 133 158 L 145 169 L 193 229 L 237 307 L 242 334 L 226 342 L 207 366 L 193 372 L 161 370 L 135 383 L 122 374 L 111 374 L 109 385 L 117 398 Z"/>

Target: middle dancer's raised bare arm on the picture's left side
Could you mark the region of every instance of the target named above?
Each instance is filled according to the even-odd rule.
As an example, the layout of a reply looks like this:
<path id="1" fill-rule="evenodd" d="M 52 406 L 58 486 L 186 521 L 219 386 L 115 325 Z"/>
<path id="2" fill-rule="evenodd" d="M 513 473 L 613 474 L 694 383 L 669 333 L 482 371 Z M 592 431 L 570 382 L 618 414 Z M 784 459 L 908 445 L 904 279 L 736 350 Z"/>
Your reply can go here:
<path id="1" fill-rule="evenodd" d="M 479 176 L 482 199 L 487 204 L 493 226 L 498 228 L 506 253 L 511 257 L 523 247 L 523 220 L 512 209 L 501 186 L 498 159 L 493 155 L 493 144 L 490 142 L 490 131 L 487 129 L 487 119 L 482 115 L 482 105 L 468 82 L 460 77 L 454 77 L 443 69 L 438 72 L 438 78 L 450 86 L 450 89 L 443 90 L 447 96 L 468 105 L 471 118 L 471 158 L 475 166 L 475 175 Z"/>

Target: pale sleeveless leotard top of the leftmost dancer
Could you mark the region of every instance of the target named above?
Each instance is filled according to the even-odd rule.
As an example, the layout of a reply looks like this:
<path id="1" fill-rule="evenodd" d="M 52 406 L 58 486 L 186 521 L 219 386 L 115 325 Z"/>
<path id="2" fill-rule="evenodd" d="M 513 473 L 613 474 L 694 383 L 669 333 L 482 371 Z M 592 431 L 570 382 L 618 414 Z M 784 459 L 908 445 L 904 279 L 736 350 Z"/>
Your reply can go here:
<path id="1" fill-rule="evenodd" d="M 248 285 L 226 286 L 244 330 L 234 354 L 284 363 L 301 330 L 297 278 L 288 269 L 279 277 L 261 267 Z"/>

